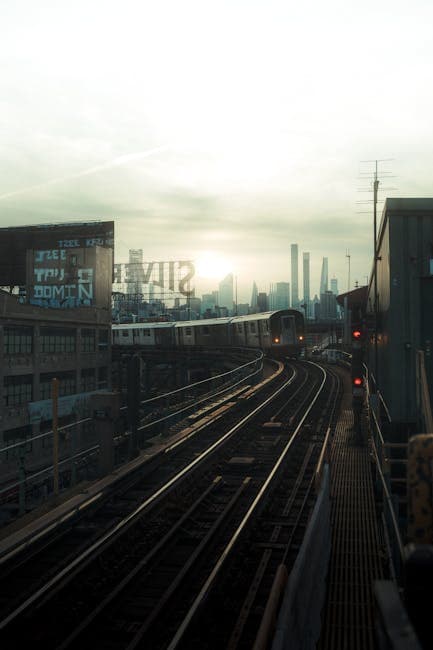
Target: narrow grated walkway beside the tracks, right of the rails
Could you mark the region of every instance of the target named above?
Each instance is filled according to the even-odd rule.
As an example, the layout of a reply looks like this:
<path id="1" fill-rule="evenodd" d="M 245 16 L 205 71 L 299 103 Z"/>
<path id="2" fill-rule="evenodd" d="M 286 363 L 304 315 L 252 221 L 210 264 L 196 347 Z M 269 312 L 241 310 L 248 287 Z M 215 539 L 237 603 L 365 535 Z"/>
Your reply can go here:
<path id="1" fill-rule="evenodd" d="M 332 545 L 320 650 L 375 648 L 373 582 L 383 578 L 371 460 L 352 431 L 347 374 L 345 382 L 331 448 Z"/>

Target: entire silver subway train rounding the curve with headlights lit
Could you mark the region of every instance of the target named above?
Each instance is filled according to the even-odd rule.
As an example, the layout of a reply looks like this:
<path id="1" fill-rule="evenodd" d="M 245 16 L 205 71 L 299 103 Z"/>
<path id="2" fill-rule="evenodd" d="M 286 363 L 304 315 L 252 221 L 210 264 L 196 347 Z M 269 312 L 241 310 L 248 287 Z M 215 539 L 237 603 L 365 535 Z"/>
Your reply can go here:
<path id="1" fill-rule="evenodd" d="M 113 345 L 137 347 L 251 347 L 275 357 L 299 357 L 305 346 L 304 316 L 296 309 L 249 316 L 113 325 Z"/>

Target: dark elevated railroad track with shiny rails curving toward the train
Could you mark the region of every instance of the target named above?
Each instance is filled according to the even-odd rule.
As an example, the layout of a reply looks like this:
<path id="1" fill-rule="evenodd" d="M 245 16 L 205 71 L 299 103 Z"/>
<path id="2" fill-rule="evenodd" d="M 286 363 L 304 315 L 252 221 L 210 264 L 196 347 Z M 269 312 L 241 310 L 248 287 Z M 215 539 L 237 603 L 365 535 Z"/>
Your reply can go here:
<path id="1" fill-rule="evenodd" d="M 262 579 L 254 581 L 260 588 L 249 587 L 241 597 L 241 601 L 252 603 L 250 612 L 257 594 L 266 591 L 263 577 L 271 573 L 272 564 L 281 561 L 273 551 L 281 555 L 282 548 L 287 549 L 289 530 L 292 554 L 302 539 L 312 501 L 308 485 L 320 451 L 320 441 L 311 439 L 309 420 L 325 419 L 323 405 L 320 414 L 313 415 L 313 407 L 324 393 L 325 378 L 314 364 L 299 365 L 286 386 L 274 388 L 274 394 L 259 404 L 254 415 L 234 426 L 226 425 L 229 428 L 224 432 L 220 422 L 219 433 L 211 427 L 206 435 L 182 445 L 164 464 L 165 476 L 158 489 L 149 490 L 155 480 L 149 475 L 144 479 L 146 488 L 135 485 L 132 492 L 130 488 L 106 504 L 96 515 L 102 527 L 93 535 L 90 531 L 92 543 L 73 558 L 66 553 L 67 560 L 50 572 L 48 581 L 41 581 L 40 574 L 51 552 L 47 548 L 45 566 L 43 555 L 34 556 L 31 563 L 39 579 L 26 589 L 24 601 L 18 603 L 15 595 L 9 607 L 2 603 L 0 629 L 4 637 L 14 643 L 36 640 L 44 648 L 94 647 L 95 638 L 100 640 L 99 647 L 133 648 L 144 642 L 152 648 L 168 647 L 169 643 L 170 647 L 182 643 L 193 647 L 185 639 L 189 635 L 194 639 L 196 634 L 194 607 L 203 608 L 200 594 L 203 590 L 206 595 L 209 590 L 218 593 L 228 557 L 239 561 L 248 555 L 246 547 L 240 556 L 233 549 L 250 543 L 258 513 L 266 509 L 264 499 L 269 498 L 271 489 L 278 494 L 277 478 L 283 477 L 288 483 L 283 481 L 278 489 L 289 496 L 273 499 L 273 508 L 281 504 L 282 514 L 271 516 L 271 521 L 275 519 L 271 542 L 253 544 L 254 549 L 269 543 L 273 548 L 261 551 L 267 559 L 262 557 L 259 562 Z M 335 386 L 329 390 L 335 392 Z M 253 420 L 256 417 L 257 422 Z M 200 450 L 194 451 L 199 443 Z M 166 480 L 167 475 L 172 478 Z M 147 497 L 143 498 L 144 494 Z M 134 508 L 125 517 L 128 500 Z M 141 500 L 138 507 L 137 500 Z M 299 509 L 299 503 L 303 504 L 301 514 L 296 514 L 294 508 Z M 269 520 L 270 515 L 267 517 Z M 88 535 L 97 519 L 81 523 L 75 532 Z M 269 529 L 269 521 L 265 529 Z M 58 548 L 61 551 L 62 544 Z M 285 551 L 285 556 L 289 558 L 290 552 Z M 28 586 L 29 567 L 29 561 L 17 562 L 9 573 L 6 567 L 3 579 L 22 593 L 24 582 Z M 191 605 L 187 611 L 186 603 Z M 248 627 L 248 607 L 244 603 L 241 609 L 244 615 L 231 624 L 231 637 L 224 633 L 225 642 L 232 647 L 237 647 Z M 167 611 L 173 614 L 169 624 Z M 167 624 L 161 626 L 161 617 Z M 200 635 L 203 643 L 202 632 Z"/>

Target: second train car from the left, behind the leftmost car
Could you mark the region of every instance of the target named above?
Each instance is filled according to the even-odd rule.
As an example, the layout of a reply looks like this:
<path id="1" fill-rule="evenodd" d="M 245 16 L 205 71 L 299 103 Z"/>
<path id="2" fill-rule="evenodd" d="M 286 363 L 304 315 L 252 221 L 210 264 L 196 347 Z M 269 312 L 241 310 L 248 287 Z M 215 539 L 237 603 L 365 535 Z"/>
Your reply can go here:
<path id="1" fill-rule="evenodd" d="M 231 318 L 180 321 L 175 324 L 176 345 L 207 348 L 231 345 L 230 321 Z"/>

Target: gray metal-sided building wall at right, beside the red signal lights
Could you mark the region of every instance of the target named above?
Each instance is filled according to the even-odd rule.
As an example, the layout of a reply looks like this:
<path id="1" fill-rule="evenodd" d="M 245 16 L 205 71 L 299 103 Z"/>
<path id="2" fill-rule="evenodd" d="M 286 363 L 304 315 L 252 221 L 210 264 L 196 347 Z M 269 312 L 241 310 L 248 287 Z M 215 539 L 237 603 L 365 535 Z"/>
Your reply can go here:
<path id="1" fill-rule="evenodd" d="M 378 368 L 374 367 L 374 339 L 369 365 L 391 417 L 396 422 L 418 422 L 416 353 L 425 353 L 433 396 L 433 199 L 387 199 L 378 235 Z M 368 312 L 374 309 L 373 273 Z"/>

